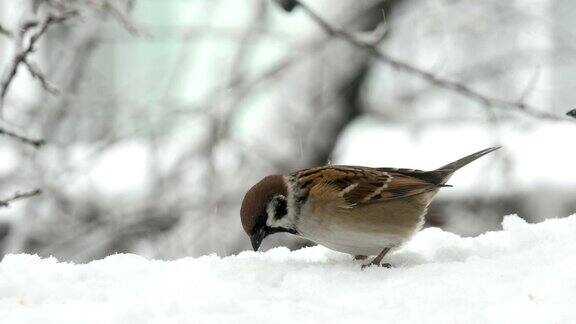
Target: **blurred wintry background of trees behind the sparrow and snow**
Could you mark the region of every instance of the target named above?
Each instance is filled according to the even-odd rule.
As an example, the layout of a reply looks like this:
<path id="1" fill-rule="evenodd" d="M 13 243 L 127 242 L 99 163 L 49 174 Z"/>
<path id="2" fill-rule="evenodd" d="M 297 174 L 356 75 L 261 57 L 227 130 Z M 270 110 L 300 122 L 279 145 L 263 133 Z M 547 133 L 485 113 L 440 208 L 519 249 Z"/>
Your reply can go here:
<path id="1" fill-rule="evenodd" d="M 576 212 L 574 1 L 305 4 L 465 88 L 272 0 L 0 0 L 0 255 L 235 254 L 250 248 L 243 194 L 265 175 L 433 169 L 492 145 L 429 225 L 473 236 Z"/>

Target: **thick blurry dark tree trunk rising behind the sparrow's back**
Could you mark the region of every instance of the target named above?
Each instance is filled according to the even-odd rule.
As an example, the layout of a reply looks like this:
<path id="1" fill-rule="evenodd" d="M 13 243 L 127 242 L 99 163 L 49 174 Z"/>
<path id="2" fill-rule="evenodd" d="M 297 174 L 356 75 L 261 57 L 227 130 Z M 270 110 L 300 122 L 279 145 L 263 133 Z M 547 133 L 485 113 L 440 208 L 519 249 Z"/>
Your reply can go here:
<path id="1" fill-rule="evenodd" d="M 351 11 L 357 18 L 345 28 L 357 32 L 371 32 L 383 23 L 384 14 L 387 19 L 393 19 L 394 8 L 401 2 L 402 0 L 375 1 L 360 13 Z M 372 58 L 362 50 L 336 40 L 317 60 L 312 69 L 325 75 L 326 80 L 310 85 L 316 87 L 316 91 L 304 90 L 319 95 L 313 98 L 311 106 L 307 107 L 314 116 L 300 126 L 309 130 L 304 139 L 305 152 L 302 153 L 306 158 L 297 165 L 290 166 L 292 169 L 329 163 L 343 131 L 364 112 L 360 98 L 364 81 L 373 64 Z M 296 74 L 288 82 L 297 82 L 294 79 L 300 78 L 305 79 L 306 76 Z M 330 93 L 334 97 L 323 100 L 320 98 L 323 93 Z"/>

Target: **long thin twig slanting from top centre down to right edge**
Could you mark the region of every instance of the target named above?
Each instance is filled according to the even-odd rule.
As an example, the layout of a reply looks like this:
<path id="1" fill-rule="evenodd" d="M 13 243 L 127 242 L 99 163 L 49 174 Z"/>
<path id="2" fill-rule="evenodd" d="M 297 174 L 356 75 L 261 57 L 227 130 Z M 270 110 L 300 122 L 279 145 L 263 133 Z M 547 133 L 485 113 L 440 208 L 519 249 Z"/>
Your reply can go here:
<path id="1" fill-rule="evenodd" d="M 312 20 L 314 20 L 316 22 L 316 24 L 318 24 L 318 26 L 320 26 L 320 28 L 322 28 L 324 30 L 324 32 L 326 32 L 328 35 L 336 37 L 336 38 L 340 38 L 340 39 L 346 41 L 347 43 L 349 43 L 353 46 L 356 46 L 358 48 L 366 50 L 374 58 L 378 59 L 381 62 L 384 62 L 384 63 L 390 65 L 391 67 L 393 67 L 399 71 L 415 75 L 421 79 L 426 80 L 430 84 L 433 84 L 439 88 L 444 88 L 444 89 L 448 89 L 448 90 L 451 90 L 453 92 L 456 92 L 456 93 L 458 93 L 462 96 L 465 96 L 469 99 L 472 99 L 472 100 L 474 100 L 474 101 L 476 101 L 476 102 L 478 102 L 484 106 L 498 107 L 498 108 L 503 108 L 503 109 L 513 109 L 513 110 L 516 110 L 518 112 L 522 112 L 524 114 L 530 115 L 532 117 L 547 119 L 547 120 L 570 120 L 570 119 L 567 119 L 563 116 L 559 116 L 556 114 L 545 112 L 541 109 L 537 109 L 537 108 L 530 106 L 530 105 L 527 105 L 523 102 L 509 101 L 509 100 L 498 99 L 498 98 L 493 98 L 493 97 L 483 95 L 483 94 L 477 92 L 476 90 L 473 90 L 472 88 L 470 88 L 469 86 L 467 86 L 463 83 L 440 78 L 431 72 L 422 70 L 422 69 L 420 69 L 414 65 L 411 65 L 409 63 L 397 60 L 397 59 L 391 57 L 390 55 L 384 53 L 381 49 L 379 49 L 377 47 L 376 44 L 364 42 L 364 41 L 360 40 L 358 37 L 356 37 L 355 35 L 351 34 L 350 32 L 347 32 L 343 29 L 333 27 L 326 20 L 324 20 L 322 17 L 320 17 L 318 14 L 316 14 L 316 12 L 314 10 L 312 10 L 310 7 L 305 5 L 303 2 L 301 2 L 299 0 L 294 0 L 294 2 L 296 2 L 298 4 L 298 6 L 300 6 L 302 8 L 302 10 Z"/>

